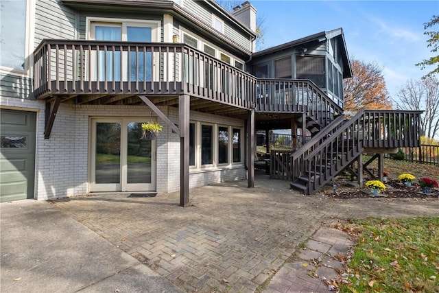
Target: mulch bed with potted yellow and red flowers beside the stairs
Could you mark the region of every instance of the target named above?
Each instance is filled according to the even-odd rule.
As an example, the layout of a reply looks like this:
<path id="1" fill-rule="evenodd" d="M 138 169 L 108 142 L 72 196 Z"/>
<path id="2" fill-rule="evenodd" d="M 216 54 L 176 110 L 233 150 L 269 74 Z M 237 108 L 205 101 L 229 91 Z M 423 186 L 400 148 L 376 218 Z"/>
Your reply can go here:
<path id="1" fill-rule="evenodd" d="M 364 180 L 366 183 L 367 180 Z M 333 187 L 335 185 L 335 188 Z M 352 183 L 346 180 L 334 180 L 318 193 L 328 198 L 439 198 L 439 189 L 431 189 L 430 194 L 424 194 L 422 188 L 414 183 L 407 187 L 397 180 L 389 180 L 385 183 L 385 191 L 378 196 L 371 194 L 370 189 L 363 187 L 351 187 Z"/>

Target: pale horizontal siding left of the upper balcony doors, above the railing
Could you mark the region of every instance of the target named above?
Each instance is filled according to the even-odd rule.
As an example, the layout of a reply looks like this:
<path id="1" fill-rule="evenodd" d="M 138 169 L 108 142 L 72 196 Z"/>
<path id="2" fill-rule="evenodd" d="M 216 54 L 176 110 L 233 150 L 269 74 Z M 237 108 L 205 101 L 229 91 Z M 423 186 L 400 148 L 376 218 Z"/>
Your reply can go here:
<path id="1" fill-rule="evenodd" d="M 75 12 L 58 0 L 37 0 L 35 46 L 44 38 L 75 38 Z"/>

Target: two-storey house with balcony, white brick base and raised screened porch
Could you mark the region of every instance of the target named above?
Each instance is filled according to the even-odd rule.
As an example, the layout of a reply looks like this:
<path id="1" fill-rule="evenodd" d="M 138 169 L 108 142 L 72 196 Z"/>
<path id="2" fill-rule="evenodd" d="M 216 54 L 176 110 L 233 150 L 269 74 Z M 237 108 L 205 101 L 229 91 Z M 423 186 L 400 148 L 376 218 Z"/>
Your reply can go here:
<path id="1" fill-rule="evenodd" d="M 209 0 L 1 10 L 1 201 L 180 191 L 185 206 L 192 187 L 253 187 L 256 130 L 316 135 L 343 113 L 342 29 L 254 52 L 248 2 L 231 14 Z M 148 121 L 163 125 L 156 139 L 143 139 Z"/>

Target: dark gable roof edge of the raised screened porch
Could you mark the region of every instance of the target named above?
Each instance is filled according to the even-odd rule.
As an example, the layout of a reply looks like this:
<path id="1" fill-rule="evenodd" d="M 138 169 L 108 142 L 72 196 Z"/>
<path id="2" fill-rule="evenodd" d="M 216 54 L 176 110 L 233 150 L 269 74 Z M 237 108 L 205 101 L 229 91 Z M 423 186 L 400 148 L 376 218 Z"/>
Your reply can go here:
<path id="1" fill-rule="evenodd" d="M 323 42 L 324 40 L 330 40 L 331 38 L 337 38 L 339 43 L 339 49 L 342 54 L 343 59 L 343 78 L 352 77 L 351 62 L 349 61 L 348 49 L 346 48 L 346 41 L 344 40 L 343 29 L 340 27 L 336 30 L 331 30 L 329 32 L 319 32 L 317 34 L 312 34 L 311 36 L 305 36 L 305 38 L 299 38 L 297 40 L 292 40 L 291 42 L 277 45 L 262 51 L 257 51 L 252 54 L 253 57 L 261 57 L 268 54 L 274 54 L 278 51 L 285 49 L 291 49 L 293 47 L 300 47 L 311 42 Z"/>

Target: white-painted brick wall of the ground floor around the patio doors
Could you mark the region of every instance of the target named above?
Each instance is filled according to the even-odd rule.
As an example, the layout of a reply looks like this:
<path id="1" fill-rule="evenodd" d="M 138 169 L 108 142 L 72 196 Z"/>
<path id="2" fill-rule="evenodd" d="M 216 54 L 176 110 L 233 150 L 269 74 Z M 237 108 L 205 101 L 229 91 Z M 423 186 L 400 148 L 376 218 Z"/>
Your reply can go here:
<path id="1" fill-rule="evenodd" d="M 78 196 L 88 192 L 89 137 L 91 117 L 148 117 L 155 113 L 147 106 L 89 106 L 60 104 L 50 139 L 44 139 L 45 102 L 0 97 L 0 104 L 16 110 L 36 110 L 35 192 L 39 200 Z M 178 109 L 160 107 L 178 124 Z M 244 121 L 192 111 L 191 121 L 244 126 Z M 163 132 L 156 139 L 156 190 L 180 189 L 180 137 L 164 121 Z M 190 187 L 198 187 L 246 177 L 244 163 L 233 167 L 192 170 Z"/>

